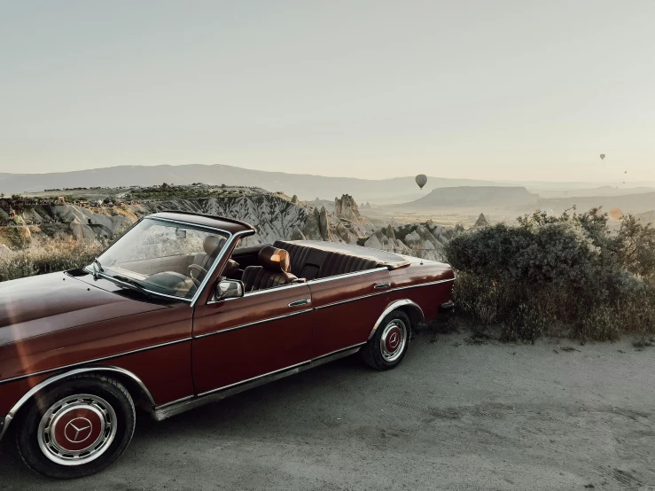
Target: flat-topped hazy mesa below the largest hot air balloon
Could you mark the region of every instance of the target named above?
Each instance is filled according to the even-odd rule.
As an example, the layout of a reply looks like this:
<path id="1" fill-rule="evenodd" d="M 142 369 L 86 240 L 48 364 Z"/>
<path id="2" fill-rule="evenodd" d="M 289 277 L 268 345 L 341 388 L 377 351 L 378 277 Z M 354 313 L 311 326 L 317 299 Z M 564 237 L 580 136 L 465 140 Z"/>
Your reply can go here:
<path id="1" fill-rule="evenodd" d="M 416 201 L 397 205 L 402 208 L 531 207 L 539 196 L 519 186 L 458 186 L 435 189 Z"/>

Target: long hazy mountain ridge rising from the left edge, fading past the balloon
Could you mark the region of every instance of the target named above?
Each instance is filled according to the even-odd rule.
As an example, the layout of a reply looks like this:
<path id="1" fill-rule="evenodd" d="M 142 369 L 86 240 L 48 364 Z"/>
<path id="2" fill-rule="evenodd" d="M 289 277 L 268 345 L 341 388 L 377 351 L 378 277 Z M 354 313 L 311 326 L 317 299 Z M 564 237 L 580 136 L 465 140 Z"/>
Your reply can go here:
<path id="1" fill-rule="evenodd" d="M 223 165 L 186 166 L 121 166 L 74 172 L 49 174 L 0 174 L 0 191 L 4 194 L 43 191 L 44 189 L 75 187 L 123 187 L 130 185 L 174 184 L 235 184 L 261 186 L 269 191 L 285 191 L 300 199 L 334 199 L 344 193 L 358 201 L 394 202 L 395 197 L 419 198 L 426 189 L 419 190 L 414 177 L 367 180 L 352 177 L 326 177 L 323 175 L 285 174 Z M 445 179 L 429 177 L 426 187 L 489 186 L 493 181 L 476 179 Z"/>

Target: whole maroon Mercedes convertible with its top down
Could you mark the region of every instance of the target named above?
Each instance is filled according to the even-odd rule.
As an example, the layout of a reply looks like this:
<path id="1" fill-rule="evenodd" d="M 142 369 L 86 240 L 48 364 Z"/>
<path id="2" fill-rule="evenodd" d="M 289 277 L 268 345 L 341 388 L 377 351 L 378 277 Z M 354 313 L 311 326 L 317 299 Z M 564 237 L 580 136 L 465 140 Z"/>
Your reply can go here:
<path id="1" fill-rule="evenodd" d="M 34 471 L 82 477 L 162 420 L 359 352 L 394 368 L 452 308 L 453 270 L 360 246 L 239 246 L 244 222 L 164 212 L 88 266 L 0 284 L 0 438 Z"/>

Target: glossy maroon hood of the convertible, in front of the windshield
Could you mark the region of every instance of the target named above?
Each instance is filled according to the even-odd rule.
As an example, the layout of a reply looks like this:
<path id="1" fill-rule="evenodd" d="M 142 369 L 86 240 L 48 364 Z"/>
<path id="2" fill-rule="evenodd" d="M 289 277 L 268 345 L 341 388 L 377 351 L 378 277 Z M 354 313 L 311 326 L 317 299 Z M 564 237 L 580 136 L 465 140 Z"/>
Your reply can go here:
<path id="1" fill-rule="evenodd" d="M 0 283 L 0 346 L 60 331 L 164 308 L 131 300 L 65 273 Z"/>

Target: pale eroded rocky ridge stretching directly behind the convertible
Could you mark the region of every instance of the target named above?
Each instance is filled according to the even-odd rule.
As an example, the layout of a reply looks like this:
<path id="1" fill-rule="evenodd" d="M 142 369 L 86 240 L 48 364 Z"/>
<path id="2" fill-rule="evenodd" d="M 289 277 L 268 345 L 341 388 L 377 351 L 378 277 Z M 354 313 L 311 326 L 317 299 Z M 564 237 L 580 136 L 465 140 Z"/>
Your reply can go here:
<path id="1" fill-rule="evenodd" d="M 408 223 L 399 226 L 374 227 L 360 213 L 350 195 L 344 194 L 331 202 L 316 201 L 316 207 L 308 207 L 296 197 L 283 194 L 238 195 L 197 199 L 169 199 L 124 204 L 121 207 L 76 207 L 73 205 L 38 206 L 24 210 L 20 215 L 0 215 L 0 253 L 28 247 L 31 235 L 45 234 L 50 238 L 76 238 L 92 241 L 111 238 L 138 217 L 162 210 L 180 210 L 200 214 L 229 216 L 253 224 L 257 233 L 244 240 L 243 245 L 272 243 L 278 238 L 291 240 L 327 240 L 359 244 L 394 253 L 413 255 L 442 261 L 444 246 L 464 226 L 444 227 L 432 221 Z M 370 208 L 366 203 L 363 208 Z M 26 225 L 27 223 L 27 225 Z M 31 224 L 30 224 L 31 223 Z M 480 214 L 475 226 L 487 225 Z"/>

